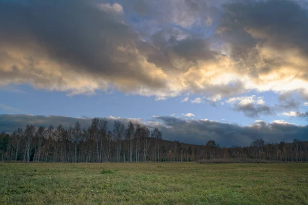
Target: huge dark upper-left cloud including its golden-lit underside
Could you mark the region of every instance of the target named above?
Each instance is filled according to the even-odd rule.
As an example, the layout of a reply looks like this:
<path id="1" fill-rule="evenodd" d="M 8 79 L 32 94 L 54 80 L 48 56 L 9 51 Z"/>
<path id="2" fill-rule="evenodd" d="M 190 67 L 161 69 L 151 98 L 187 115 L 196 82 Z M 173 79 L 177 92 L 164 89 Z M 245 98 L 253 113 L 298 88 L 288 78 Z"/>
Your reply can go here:
<path id="1" fill-rule="evenodd" d="M 2 84 L 31 83 L 71 95 L 109 87 L 151 95 L 149 88 L 164 88 L 164 71 L 146 60 L 121 10 L 82 0 L 2 1 Z"/>

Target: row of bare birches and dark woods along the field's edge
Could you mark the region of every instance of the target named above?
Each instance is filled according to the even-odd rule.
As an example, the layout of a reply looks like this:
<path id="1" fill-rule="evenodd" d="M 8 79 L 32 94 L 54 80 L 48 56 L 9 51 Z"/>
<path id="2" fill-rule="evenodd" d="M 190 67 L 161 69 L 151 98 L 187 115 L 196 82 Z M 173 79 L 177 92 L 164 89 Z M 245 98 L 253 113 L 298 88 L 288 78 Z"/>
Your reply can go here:
<path id="1" fill-rule="evenodd" d="M 12 134 L 0 134 L 1 161 L 37 162 L 138 162 L 204 161 L 207 159 L 249 158 L 275 161 L 308 161 L 308 142 L 266 144 L 257 139 L 251 146 L 221 148 L 214 140 L 205 145 L 163 140 L 158 128 L 115 120 L 113 129 L 99 118 L 91 126 L 48 128 L 28 125 Z"/>

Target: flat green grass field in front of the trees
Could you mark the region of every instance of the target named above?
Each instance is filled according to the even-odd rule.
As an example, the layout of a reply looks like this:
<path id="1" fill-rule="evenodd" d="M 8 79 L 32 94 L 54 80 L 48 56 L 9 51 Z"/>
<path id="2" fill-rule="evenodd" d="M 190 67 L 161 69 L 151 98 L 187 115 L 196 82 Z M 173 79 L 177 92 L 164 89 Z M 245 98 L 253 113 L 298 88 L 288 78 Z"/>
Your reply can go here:
<path id="1" fill-rule="evenodd" d="M 0 204 L 308 204 L 308 163 L 0 163 Z"/>

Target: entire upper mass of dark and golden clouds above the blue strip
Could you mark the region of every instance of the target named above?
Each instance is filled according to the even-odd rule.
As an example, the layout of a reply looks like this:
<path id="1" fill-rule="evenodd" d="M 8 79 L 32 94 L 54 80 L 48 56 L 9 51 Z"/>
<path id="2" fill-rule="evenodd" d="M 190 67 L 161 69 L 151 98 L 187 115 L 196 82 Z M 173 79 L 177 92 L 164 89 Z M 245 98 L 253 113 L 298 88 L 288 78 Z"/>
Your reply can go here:
<path id="1" fill-rule="evenodd" d="M 307 8 L 286 0 L 1 1 L 0 86 L 308 99 L 307 22 Z M 246 113 L 268 112 L 261 103 Z"/>

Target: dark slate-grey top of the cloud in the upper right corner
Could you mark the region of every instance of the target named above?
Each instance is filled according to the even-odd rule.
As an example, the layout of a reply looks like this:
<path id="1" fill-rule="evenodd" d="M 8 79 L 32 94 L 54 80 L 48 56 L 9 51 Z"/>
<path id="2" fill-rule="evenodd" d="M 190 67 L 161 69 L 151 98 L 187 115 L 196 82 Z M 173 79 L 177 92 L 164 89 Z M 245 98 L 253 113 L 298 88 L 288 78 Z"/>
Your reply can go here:
<path id="1" fill-rule="evenodd" d="M 264 32 L 276 48 L 286 49 L 285 46 L 296 45 L 308 51 L 308 13 L 295 1 L 243 1 L 242 4 L 229 4 L 225 8 L 235 25 L 243 30 Z"/>

